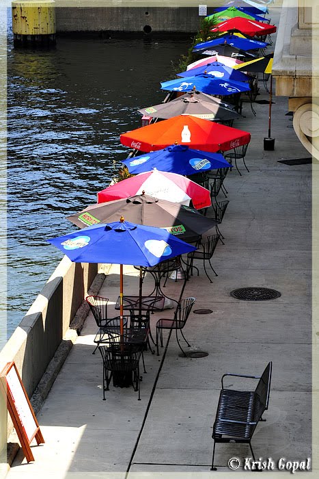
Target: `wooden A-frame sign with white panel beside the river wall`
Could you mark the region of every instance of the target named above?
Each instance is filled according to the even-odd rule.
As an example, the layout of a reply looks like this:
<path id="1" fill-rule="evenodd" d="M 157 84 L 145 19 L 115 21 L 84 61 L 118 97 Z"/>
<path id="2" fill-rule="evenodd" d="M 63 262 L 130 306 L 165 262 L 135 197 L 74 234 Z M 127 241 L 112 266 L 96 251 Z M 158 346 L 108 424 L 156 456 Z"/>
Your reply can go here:
<path id="1" fill-rule="evenodd" d="M 29 463 L 34 461 L 30 448 L 31 441 L 36 439 L 39 445 L 44 443 L 44 439 L 14 361 L 7 363 L 3 368 L 0 375 L 0 383 L 3 393 L 7 396 L 8 411 L 23 453 Z"/>

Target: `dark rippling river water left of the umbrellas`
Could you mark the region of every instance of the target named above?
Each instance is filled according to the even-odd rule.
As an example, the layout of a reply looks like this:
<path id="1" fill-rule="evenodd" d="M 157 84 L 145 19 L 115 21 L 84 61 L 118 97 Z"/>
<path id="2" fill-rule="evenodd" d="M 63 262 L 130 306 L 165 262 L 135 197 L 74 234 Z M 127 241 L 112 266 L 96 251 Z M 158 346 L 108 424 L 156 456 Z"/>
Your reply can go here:
<path id="1" fill-rule="evenodd" d="M 161 103 L 160 81 L 186 53 L 178 40 L 57 38 L 51 51 L 14 49 L 8 34 L 8 331 L 62 257 L 46 243 L 76 228 L 66 215 L 96 203 L 128 155 L 120 133 L 137 108 Z"/>

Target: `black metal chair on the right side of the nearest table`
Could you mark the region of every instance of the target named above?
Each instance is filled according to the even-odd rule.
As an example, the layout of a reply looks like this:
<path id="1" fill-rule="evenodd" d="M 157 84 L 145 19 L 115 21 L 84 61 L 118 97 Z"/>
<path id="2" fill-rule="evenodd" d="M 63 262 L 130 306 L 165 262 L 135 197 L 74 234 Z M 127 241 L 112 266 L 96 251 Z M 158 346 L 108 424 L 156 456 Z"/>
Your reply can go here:
<path id="1" fill-rule="evenodd" d="M 180 341 L 178 339 L 178 331 L 180 331 L 187 346 L 190 347 L 191 345 L 189 344 L 189 341 L 187 341 L 187 339 L 184 337 L 182 329 L 184 328 L 186 321 L 189 318 L 189 315 L 191 313 L 191 309 L 193 308 L 195 300 L 196 300 L 195 298 L 186 298 L 184 300 L 179 300 L 174 313 L 174 319 L 169 320 L 164 318 L 164 319 L 158 320 L 158 322 L 156 323 L 156 348 L 157 348 L 158 356 L 159 356 L 159 352 L 158 352 L 159 339 L 161 340 L 161 347 L 163 348 L 163 329 L 169 329 L 171 331 L 173 330 L 175 331 L 178 346 L 180 350 L 182 351 L 182 353 L 184 354 L 184 356 L 186 356 L 186 353 L 184 352 L 182 346 L 180 346 Z"/>

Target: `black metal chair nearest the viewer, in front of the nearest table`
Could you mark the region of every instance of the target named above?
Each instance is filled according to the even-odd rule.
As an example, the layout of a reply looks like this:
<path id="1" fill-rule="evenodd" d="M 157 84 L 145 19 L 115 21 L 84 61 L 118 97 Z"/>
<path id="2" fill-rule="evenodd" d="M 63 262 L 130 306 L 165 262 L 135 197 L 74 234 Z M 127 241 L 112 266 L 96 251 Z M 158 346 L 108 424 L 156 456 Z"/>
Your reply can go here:
<path id="1" fill-rule="evenodd" d="M 139 360 L 143 344 L 126 341 L 125 335 L 120 337 L 118 333 L 109 331 L 107 344 L 98 346 L 98 350 L 103 361 L 103 400 L 112 377 L 115 386 L 133 385 L 134 390 L 139 391 L 138 400 L 141 400 Z"/>

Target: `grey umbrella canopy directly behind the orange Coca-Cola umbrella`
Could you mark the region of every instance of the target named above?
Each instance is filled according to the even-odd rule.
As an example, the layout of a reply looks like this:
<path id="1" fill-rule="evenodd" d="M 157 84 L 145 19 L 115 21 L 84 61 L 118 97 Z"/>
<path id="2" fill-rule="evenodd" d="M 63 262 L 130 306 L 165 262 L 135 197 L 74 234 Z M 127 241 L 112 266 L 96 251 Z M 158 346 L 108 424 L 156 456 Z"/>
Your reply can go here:
<path id="1" fill-rule="evenodd" d="M 239 73 L 239 72 L 238 72 Z M 210 98 L 210 97 L 208 97 Z M 152 107 L 139 109 L 143 115 L 151 115 L 155 118 L 171 118 L 182 114 L 196 116 L 197 118 L 206 118 L 206 120 L 233 120 L 240 116 L 233 109 L 228 109 L 214 101 L 206 101 L 197 98 L 195 95 L 178 96 L 175 100 L 160 103 Z"/>

